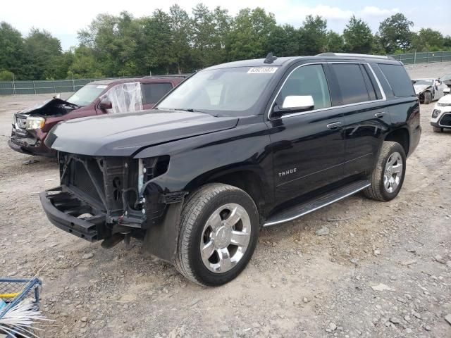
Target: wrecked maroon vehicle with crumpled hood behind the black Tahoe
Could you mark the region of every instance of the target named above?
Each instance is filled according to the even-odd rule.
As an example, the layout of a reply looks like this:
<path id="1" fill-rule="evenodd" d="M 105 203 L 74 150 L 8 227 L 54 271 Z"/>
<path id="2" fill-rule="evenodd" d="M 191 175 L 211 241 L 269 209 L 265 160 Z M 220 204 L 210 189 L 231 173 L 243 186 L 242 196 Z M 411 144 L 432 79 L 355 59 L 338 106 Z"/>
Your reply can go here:
<path id="1" fill-rule="evenodd" d="M 86 84 L 67 101 L 54 98 L 13 115 L 8 145 L 24 154 L 54 156 L 44 139 L 56 123 L 106 113 L 127 113 L 152 108 L 185 79 L 183 75 L 99 80 Z"/>

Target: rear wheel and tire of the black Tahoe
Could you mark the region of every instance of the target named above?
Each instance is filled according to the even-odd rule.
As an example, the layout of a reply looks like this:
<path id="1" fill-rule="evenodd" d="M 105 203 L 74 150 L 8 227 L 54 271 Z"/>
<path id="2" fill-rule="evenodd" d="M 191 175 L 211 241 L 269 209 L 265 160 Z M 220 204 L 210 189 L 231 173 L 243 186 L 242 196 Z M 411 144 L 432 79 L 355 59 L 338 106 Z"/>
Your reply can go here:
<path id="1" fill-rule="evenodd" d="M 384 141 L 378 163 L 371 173 L 371 186 L 364 189 L 369 199 L 390 201 L 399 194 L 406 171 L 406 154 L 401 144 Z"/>

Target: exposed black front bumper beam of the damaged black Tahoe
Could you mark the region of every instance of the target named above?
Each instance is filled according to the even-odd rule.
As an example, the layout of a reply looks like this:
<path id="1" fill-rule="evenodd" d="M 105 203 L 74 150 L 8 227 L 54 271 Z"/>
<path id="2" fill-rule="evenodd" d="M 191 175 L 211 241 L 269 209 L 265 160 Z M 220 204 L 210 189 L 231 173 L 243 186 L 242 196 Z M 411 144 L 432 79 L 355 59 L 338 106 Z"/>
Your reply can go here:
<path id="1" fill-rule="evenodd" d="M 78 214 L 88 213 L 89 207 L 74 195 L 63 192 L 61 187 L 58 187 L 41 192 L 39 199 L 47 218 L 56 227 L 89 242 L 101 239 L 99 230 L 104 227 L 105 215 L 99 214 L 85 219 L 75 217 Z"/>

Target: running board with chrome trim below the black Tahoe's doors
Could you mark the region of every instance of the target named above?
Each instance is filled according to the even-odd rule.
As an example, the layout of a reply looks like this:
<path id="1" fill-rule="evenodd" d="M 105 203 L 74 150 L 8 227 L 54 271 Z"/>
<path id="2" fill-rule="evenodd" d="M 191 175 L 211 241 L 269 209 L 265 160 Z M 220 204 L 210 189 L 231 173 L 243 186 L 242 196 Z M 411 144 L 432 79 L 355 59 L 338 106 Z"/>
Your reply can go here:
<path id="1" fill-rule="evenodd" d="M 351 196 L 370 185 L 371 183 L 367 180 L 352 182 L 344 187 L 335 189 L 332 192 L 319 195 L 316 199 L 311 199 L 297 206 L 292 206 L 284 211 L 280 211 L 280 213 L 276 213 L 276 215 L 268 218 L 263 226 L 268 227 L 270 225 L 290 222 L 290 220 L 295 220 L 303 215 L 307 215 L 307 213 L 323 208 L 323 206 L 328 206 L 336 201 L 340 201 L 340 199 L 345 199 L 347 196 Z"/>

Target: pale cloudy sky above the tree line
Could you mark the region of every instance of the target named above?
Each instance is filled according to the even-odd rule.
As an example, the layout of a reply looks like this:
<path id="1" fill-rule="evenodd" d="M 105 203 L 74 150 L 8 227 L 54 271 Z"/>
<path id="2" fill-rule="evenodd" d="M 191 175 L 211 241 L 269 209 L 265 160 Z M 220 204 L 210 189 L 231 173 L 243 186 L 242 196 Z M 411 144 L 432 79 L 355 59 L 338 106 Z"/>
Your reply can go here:
<path id="1" fill-rule="evenodd" d="M 413 30 L 431 27 L 443 35 L 451 35 L 451 1 L 419 0 L 360 0 L 360 1 L 296 1 L 296 0 L 228 0 L 228 1 L 111 1 L 78 0 L 64 2 L 61 0 L 41 1 L 2 1 L 0 21 L 6 21 L 27 35 L 31 27 L 44 28 L 61 40 L 63 49 L 78 44 L 77 31 L 89 25 L 99 13 L 117 15 L 129 11 L 136 17 L 151 15 L 156 8 L 167 11 L 171 4 L 177 2 L 189 13 L 197 3 L 203 2 L 210 9 L 221 6 L 235 15 L 241 8 L 257 6 L 274 13 L 279 24 L 290 23 L 295 27 L 302 25 L 305 15 L 321 15 L 328 20 L 328 28 L 342 32 L 352 14 L 369 23 L 373 32 L 384 18 L 394 13 L 404 15 L 414 22 Z M 428 6 L 425 6 L 428 4 Z"/>

